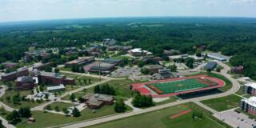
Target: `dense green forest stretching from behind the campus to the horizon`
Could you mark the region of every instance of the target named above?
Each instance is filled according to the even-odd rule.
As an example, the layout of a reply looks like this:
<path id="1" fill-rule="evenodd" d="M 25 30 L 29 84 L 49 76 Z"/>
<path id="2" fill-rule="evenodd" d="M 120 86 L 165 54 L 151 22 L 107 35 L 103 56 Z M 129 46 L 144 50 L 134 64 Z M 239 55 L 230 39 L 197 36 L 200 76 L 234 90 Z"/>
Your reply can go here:
<path id="1" fill-rule="evenodd" d="M 94 18 L 0 24 L 0 62 L 18 62 L 32 43 L 37 48 L 82 46 L 115 38 L 162 56 L 176 49 L 193 54 L 196 47 L 232 55 L 256 79 L 256 18 Z"/>

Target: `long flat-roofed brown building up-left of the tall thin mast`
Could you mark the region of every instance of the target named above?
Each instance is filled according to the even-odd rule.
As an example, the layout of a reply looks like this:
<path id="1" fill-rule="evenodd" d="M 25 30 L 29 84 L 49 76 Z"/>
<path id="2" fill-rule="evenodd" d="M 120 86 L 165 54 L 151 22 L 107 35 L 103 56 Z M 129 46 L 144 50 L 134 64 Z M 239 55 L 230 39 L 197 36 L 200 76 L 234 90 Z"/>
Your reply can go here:
<path id="1" fill-rule="evenodd" d="M 77 59 L 74 59 L 73 61 L 66 62 L 65 66 L 83 66 L 86 64 L 89 64 L 91 62 L 94 62 L 94 57 L 79 57 Z"/>

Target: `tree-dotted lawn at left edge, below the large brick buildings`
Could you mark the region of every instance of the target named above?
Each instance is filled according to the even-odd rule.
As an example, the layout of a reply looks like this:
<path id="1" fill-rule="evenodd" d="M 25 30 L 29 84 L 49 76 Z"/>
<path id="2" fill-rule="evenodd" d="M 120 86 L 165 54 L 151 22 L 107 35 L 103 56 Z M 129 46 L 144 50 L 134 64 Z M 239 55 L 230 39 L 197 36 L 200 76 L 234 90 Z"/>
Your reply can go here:
<path id="1" fill-rule="evenodd" d="M 20 107 L 26 107 L 26 106 L 34 107 L 34 106 L 38 106 L 38 105 L 41 104 L 41 103 L 39 103 L 39 102 L 31 102 L 31 101 L 30 101 L 30 102 L 21 101 L 20 104 L 18 104 L 18 105 L 17 105 L 17 104 L 14 104 L 14 103 L 12 102 L 12 98 L 13 98 L 14 95 L 18 94 L 18 92 L 19 92 L 21 98 L 22 98 L 22 96 L 26 96 L 26 95 L 28 95 L 28 94 L 31 93 L 30 90 L 19 90 L 19 91 L 16 91 L 16 90 L 6 90 L 6 93 L 2 96 L 1 101 L 2 101 L 4 104 L 6 104 L 7 106 L 10 106 L 10 107 L 13 107 L 13 108 L 16 108 L 16 109 L 18 109 L 18 108 L 20 108 Z M 11 102 L 7 102 L 6 98 L 7 98 L 8 96 L 10 97 L 10 101 L 11 101 Z"/>

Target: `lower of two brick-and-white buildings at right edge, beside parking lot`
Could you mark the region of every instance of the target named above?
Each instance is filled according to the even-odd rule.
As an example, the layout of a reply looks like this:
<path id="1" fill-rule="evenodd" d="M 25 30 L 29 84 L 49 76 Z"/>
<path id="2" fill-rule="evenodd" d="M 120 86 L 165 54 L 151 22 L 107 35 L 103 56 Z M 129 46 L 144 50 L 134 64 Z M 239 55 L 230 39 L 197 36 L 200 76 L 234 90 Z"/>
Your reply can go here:
<path id="1" fill-rule="evenodd" d="M 243 111 L 256 115 L 256 97 L 243 98 L 240 107 Z"/>

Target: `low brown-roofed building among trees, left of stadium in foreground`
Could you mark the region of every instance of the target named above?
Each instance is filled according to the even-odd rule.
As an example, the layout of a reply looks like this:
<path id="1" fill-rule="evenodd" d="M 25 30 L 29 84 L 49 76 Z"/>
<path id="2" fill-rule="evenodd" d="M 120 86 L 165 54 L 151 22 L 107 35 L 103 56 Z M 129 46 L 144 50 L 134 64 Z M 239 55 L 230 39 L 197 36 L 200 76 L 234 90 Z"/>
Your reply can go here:
<path id="1" fill-rule="evenodd" d="M 86 94 L 82 97 L 86 102 L 88 108 L 100 109 L 104 105 L 112 105 L 114 103 L 114 96 L 107 94 Z"/>

